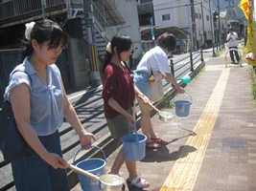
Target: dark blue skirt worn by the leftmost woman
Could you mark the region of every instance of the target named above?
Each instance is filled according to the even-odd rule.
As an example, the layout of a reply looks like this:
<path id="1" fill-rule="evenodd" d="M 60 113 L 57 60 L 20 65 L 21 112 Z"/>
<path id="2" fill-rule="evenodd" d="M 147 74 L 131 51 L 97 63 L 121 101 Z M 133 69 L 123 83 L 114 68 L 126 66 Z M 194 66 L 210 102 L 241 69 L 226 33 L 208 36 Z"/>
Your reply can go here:
<path id="1" fill-rule="evenodd" d="M 62 157 L 58 131 L 38 137 L 46 150 Z M 12 162 L 12 174 L 17 191 L 69 191 L 65 169 L 55 169 L 27 146 L 26 158 Z"/>

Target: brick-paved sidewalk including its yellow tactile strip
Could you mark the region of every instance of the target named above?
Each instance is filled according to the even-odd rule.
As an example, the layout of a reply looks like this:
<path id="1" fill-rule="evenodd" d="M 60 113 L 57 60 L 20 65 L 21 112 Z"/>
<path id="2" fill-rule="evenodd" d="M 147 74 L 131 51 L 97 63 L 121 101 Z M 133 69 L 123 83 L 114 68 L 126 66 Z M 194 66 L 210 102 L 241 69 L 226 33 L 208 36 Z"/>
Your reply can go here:
<path id="1" fill-rule="evenodd" d="M 192 96 L 189 117 L 174 114 L 164 123 L 152 117 L 155 132 L 170 141 L 158 150 L 146 150 L 137 172 L 149 191 L 255 191 L 256 108 L 250 93 L 246 62 L 225 68 L 224 53 L 210 58 L 206 67 L 185 87 Z M 176 96 L 175 100 L 189 96 Z M 105 166 L 107 171 L 118 151 Z M 123 165 L 120 175 L 126 179 Z M 72 190 L 81 190 L 78 184 Z M 137 191 L 129 187 L 130 191 Z"/>

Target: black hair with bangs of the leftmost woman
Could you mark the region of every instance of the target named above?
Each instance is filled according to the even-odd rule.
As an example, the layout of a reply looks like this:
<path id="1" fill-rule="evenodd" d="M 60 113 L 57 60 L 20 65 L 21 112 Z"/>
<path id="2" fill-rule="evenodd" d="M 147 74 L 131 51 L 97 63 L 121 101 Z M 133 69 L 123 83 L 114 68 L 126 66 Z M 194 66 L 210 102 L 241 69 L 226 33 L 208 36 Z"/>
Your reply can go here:
<path id="1" fill-rule="evenodd" d="M 32 39 L 35 39 L 39 45 L 49 41 L 48 49 L 55 49 L 59 45 L 65 46 L 67 43 L 67 33 L 61 29 L 58 23 L 49 19 L 36 22 L 29 38 L 30 40 L 22 41 L 24 47 L 19 59 L 20 63 L 26 56 L 29 56 L 34 52 Z"/>

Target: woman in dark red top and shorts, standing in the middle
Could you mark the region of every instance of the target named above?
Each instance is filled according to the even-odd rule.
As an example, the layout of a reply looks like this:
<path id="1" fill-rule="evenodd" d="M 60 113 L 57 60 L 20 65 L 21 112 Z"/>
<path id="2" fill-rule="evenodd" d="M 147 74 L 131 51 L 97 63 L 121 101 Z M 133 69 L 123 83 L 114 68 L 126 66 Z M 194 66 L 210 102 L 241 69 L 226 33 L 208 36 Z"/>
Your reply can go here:
<path id="1" fill-rule="evenodd" d="M 104 64 L 104 111 L 105 119 L 111 137 L 122 138 L 128 134 L 128 126 L 135 123 L 131 108 L 135 95 L 143 96 L 134 86 L 125 62 L 131 54 L 131 39 L 125 35 L 115 35 L 107 44 Z M 144 101 L 149 101 L 145 96 Z M 125 158 L 124 148 L 119 151 L 108 174 L 118 174 L 123 163 L 128 168 L 128 184 L 139 188 L 149 187 L 146 180 L 141 179 L 136 172 L 136 162 Z"/>

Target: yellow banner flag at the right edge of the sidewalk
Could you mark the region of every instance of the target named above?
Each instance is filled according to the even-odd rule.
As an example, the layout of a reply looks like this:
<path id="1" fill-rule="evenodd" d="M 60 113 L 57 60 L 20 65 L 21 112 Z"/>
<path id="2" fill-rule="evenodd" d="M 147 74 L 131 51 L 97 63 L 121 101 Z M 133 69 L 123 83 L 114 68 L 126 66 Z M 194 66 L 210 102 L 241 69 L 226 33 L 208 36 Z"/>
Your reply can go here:
<path id="1" fill-rule="evenodd" d="M 241 0 L 238 5 L 247 19 L 247 40 L 244 47 L 244 58 L 249 64 L 256 66 L 255 21 L 253 15 L 253 0 Z"/>

